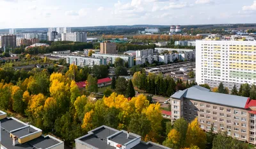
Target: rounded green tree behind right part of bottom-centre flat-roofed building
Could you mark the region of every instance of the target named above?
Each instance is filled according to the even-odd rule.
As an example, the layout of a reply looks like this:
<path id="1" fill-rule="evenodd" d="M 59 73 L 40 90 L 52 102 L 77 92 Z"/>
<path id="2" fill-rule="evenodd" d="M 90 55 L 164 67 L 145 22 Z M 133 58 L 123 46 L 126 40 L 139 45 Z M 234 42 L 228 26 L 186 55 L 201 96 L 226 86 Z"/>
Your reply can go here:
<path id="1" fill-rule="evenodd" d="M 134 113 L 131 116 L 128 130 L 144 138 L 150 132 L 150 121 L 145 114 Z"/>

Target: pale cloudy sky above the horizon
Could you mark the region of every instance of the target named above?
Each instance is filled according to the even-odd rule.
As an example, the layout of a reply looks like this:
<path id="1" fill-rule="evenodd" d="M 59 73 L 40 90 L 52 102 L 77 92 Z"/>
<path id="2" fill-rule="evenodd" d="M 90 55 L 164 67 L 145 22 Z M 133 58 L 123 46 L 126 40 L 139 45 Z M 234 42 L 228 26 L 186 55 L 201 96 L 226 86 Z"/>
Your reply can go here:
<path id="1" fill-rule="evenodd" d="M 0 0 L 0 14 L 1 29 L 256 23 L 256 0 Z"/>

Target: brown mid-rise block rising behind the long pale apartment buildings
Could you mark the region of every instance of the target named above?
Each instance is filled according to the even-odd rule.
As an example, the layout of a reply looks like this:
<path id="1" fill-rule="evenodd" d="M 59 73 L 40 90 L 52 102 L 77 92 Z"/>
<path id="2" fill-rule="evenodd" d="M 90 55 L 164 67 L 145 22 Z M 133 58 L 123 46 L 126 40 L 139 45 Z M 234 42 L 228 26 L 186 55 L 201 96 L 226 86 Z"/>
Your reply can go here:
<path id="1" fill-rule="evenodd" d="M 117 54 L 116 43 L 113 42 L 101 42 L 100 43 L 100 54 Z"/>

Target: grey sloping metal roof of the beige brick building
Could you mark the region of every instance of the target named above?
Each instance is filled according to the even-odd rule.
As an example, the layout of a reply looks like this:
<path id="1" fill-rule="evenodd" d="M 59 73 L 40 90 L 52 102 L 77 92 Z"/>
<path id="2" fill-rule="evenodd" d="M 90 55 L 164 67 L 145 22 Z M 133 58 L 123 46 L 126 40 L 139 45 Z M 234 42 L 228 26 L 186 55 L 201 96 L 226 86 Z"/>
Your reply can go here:
<path id="1" fill-rule="evenodd" d="M 177 91 L 172 98 L 189 98 L 192 100 L 199 100 L 203 102 L 209 102 L 212 104 L 219 104 L 223 106 L 243 108 L 248 100 L 248 97 L 240 97 L 236 95 L 228 95 L 223 93 L 215 93 L 212 91 L 198 89 L 198 86 L 191 87 L 183 91 Z"/>

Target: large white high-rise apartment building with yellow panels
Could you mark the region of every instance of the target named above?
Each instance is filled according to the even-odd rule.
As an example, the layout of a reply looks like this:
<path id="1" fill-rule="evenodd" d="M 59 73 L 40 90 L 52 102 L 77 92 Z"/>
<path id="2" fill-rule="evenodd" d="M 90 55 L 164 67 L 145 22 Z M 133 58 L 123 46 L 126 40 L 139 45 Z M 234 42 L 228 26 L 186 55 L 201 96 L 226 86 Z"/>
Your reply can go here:
<path id="1" fill-rule="evenodd" d="M 256 84 L 255 41 L 196 41 L 196 82 L 232 89 L 241 84 Z"/>

